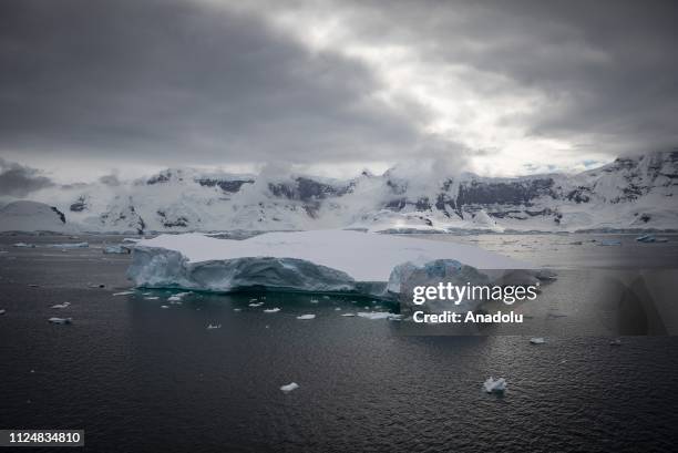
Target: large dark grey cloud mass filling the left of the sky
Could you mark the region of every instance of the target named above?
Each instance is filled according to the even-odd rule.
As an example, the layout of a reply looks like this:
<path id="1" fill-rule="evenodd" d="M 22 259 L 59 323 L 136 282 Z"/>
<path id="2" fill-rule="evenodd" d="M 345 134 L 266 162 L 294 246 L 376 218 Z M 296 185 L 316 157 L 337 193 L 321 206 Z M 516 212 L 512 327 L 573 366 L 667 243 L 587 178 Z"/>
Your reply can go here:
<path id="1" fill-rule="evenodd" d="M 0 3 L 0 148 L 168 163 L 414 148 L 361 64 L 197 2 Z"/>

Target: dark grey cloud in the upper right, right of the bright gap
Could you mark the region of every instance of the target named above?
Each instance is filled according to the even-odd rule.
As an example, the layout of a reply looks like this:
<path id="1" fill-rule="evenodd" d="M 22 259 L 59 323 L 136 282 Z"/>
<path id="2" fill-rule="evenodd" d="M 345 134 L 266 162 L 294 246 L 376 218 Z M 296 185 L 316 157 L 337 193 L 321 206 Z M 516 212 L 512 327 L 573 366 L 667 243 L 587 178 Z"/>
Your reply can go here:
<path id="1" fill-rule="evenodd" d="M 613 153 L 678 144 L 676 1 L 357 2 L 349 17 L 363 37 L 541 91 L 536 115 L 510 120 L 534 135 Z"/>

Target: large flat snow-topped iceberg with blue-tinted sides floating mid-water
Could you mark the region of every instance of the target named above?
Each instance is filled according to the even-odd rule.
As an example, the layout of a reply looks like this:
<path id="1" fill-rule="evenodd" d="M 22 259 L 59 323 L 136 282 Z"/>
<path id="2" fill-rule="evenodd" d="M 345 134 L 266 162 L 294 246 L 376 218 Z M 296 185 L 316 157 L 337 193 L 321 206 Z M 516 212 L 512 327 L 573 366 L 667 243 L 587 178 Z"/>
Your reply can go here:
<path id="1" fill-rule="evenodd" d="M 244 240 L 193 233 L 138 241 L 127 276 L 137 287 L 147 288 L 234 291 L 265 287 L 381 295 L 387 282 L 391 292 L 399 291 L 393 278 L 407 277 L 407 272 L 392 275 L 399 265 L 418 267 L 440 259 L 477 269 L 532 268 L 470 245 L 372 233 L 268 233 Z"/>

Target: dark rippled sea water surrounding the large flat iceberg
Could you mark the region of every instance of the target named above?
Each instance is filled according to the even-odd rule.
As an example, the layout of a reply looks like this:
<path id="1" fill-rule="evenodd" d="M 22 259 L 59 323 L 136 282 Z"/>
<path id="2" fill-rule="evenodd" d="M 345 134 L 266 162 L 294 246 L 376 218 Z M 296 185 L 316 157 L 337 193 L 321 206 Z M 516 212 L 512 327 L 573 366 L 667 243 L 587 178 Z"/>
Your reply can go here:
<path id="1" fill-rule="evenodd" d="M 676 267 L 676 236 L 634 237 L 428 238 L 542 266 Z M 388 308 L 364 298 L 113 296 L 130 289 L 131 258 L 100 247 L 120 239 L 0 236 L 0 429 L 84 429 L 92 452 L 678 450 L 678 338 L 409 337 L 399 322 L 340 316 Z M 90 248 L 40 246 L 81 240 Z M 503 397 L 482 391 L 490 375 L 507 380 Z"/>

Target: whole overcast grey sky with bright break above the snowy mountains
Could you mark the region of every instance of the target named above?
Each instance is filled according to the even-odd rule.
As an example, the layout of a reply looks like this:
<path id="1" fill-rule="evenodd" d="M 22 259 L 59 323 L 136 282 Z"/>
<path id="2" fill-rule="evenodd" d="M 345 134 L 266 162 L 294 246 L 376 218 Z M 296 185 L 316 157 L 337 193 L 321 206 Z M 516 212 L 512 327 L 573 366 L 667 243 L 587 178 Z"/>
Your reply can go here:
<path id="1" fill-rule="evenodd" d="M 3 0 L 0 192 L 577 172 L 678 144 L 678 2 Z"/>

